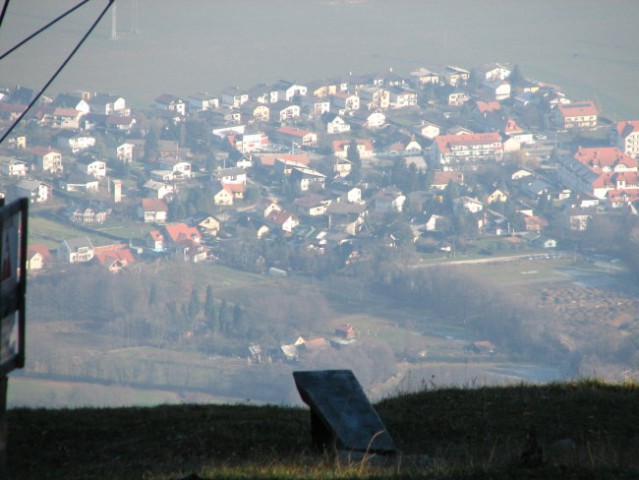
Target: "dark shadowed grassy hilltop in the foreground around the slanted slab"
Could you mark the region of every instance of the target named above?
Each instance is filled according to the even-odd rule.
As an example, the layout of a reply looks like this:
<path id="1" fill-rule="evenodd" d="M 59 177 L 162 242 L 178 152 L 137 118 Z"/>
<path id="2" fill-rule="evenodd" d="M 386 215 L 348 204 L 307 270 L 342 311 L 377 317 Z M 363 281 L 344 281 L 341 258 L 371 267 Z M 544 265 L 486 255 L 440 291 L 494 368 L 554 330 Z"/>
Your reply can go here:
<path id="1" fill-rule="evenodd" d="M 308 411 L 276 406 L 10 410 L 16 480 L 192 478 L 630 479 L 639 389 L 596 381 L 436 389 L 376 405 L 402 454 L 316 452 Z"/>

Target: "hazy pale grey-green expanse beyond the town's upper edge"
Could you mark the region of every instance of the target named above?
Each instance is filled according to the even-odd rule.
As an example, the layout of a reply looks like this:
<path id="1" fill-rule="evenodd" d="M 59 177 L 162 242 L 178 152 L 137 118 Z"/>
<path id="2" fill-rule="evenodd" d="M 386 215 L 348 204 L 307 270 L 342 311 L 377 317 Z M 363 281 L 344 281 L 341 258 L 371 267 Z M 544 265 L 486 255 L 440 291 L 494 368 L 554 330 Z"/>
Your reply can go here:
<path id="1" fill-rule="evenodd" d="M 0 31 L 2 51 L 75 3 L 13 2 Z M 92 0 L 1 62 L 0 83 L 41 83 L 106 3 Z M 497 61 L 517 63 L 575 99 L 593 98 L 607 113 L 639 117 L 639 2 L 119 0 L 116 6 L 119 39 L 110 38 L 109 15 L 53 90 L 110 91 L 146 106 L 161 93 Z"/>

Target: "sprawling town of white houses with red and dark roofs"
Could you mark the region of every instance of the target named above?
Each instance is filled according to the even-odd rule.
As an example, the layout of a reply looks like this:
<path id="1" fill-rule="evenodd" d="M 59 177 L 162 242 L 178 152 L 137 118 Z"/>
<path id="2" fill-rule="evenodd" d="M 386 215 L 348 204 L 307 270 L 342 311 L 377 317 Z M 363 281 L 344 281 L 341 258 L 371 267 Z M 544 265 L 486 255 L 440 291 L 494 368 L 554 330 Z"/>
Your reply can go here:
<path id="1" fill-rule="evenodd" d="M 0 128 L 33 98 L 3 88 Z M 30 237 L 32 274 L 162 257 L 320 275 L 372 245 L 561 248 L 597 216 L 635 212 L 638 155 L 639 121 L 517 65 L 447 66 L 163 93 L 144 110 L 42 97 L 0 146 L 0 192 L 62 226 Z"/>

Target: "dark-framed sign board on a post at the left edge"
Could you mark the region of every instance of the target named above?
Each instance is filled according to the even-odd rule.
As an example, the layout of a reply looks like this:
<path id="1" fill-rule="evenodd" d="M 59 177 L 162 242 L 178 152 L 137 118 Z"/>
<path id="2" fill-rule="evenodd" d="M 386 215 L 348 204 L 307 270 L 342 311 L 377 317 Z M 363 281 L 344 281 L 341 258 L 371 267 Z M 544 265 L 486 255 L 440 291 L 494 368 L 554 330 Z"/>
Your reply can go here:
<path id="1" fill-rule="evenodd" d="M 7 478 L 7 374 L 24 367 L 29 200 L 0 199 L 0 478 Z"/>

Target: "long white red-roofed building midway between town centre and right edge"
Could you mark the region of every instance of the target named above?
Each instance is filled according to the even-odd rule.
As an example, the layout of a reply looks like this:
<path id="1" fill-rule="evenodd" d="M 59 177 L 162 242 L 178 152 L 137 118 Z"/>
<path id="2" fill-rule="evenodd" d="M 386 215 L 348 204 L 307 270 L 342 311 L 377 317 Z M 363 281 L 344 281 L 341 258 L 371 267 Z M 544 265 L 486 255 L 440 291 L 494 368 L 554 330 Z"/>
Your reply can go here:
<path id="1" fill-rule="evenodd" d="M 439 135 L 430 147 L 431 160 L 440 165 L 501 160 L 504 146 L 499 133 Z"/>

